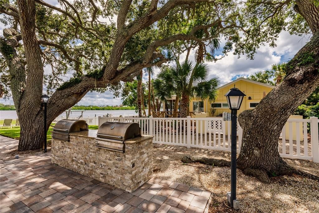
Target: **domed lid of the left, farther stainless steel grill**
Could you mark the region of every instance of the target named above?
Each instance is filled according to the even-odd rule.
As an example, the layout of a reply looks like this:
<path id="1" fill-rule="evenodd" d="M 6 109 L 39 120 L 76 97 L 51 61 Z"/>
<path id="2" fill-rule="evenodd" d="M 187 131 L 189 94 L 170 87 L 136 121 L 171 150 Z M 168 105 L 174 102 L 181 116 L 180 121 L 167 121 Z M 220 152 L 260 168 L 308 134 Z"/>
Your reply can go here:
<path id="1" fill-rule="evenodd" d="M 56 123 L 53 130 L 57 132 L 71 133 L 89 130 L 89 126 L 84 120 L 62 119 Z"/>

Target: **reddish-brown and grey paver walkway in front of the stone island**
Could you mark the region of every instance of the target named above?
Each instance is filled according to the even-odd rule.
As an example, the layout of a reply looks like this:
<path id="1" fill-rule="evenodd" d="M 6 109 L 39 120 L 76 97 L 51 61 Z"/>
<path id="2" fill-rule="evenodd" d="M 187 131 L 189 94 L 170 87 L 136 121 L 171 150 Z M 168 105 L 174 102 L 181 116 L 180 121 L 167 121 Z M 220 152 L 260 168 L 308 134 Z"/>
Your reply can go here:
<path id="1" fill-rule="evenodd" d="M 1 150 L 17 145 L 0 136 Z M 0 161 L 1 212 L 204 212 L 211 196 L 157 177 L 127 193 L 51 164 L 50 154 Z"/>

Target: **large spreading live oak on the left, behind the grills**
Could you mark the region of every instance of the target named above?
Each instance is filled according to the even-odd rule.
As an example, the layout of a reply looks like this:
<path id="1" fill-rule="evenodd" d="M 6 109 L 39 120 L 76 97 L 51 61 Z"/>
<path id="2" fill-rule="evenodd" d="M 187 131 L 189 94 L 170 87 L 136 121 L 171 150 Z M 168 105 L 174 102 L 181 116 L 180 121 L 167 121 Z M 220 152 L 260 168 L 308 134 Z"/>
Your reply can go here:
<path id="1" fill-rule="evenodd" d="M 171 43 L 204 45 L 219 35 L 234 43 L 243 30 L 233 1 L 59 3 L 1 0 L 1 21 L 6 26 L 0 37 L 1 76 L 20 120 L 18 150 L 43 146 L 43 87 L 51 95 L 49 126 L 87 92 L 131 81 L 141 69 L 167 62 Z M 194 23 L 197 12 L 206 16 Z M 183 21 L 172 31 L 167 20 Z"/>

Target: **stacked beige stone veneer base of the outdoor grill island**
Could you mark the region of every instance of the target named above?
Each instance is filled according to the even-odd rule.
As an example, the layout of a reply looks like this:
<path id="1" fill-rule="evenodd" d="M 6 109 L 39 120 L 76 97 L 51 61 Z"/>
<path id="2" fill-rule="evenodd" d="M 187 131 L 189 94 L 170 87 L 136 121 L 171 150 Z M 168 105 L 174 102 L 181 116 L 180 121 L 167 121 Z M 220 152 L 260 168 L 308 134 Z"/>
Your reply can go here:
<path id="1" fill-rule="evenodd" d="M 95 146 L 93 137 L 70 135 L 70 141 L 52 138 L 52 163 L 132 192 L 153 174 L 152 136 L 125 143 L 125 153 Z"/>

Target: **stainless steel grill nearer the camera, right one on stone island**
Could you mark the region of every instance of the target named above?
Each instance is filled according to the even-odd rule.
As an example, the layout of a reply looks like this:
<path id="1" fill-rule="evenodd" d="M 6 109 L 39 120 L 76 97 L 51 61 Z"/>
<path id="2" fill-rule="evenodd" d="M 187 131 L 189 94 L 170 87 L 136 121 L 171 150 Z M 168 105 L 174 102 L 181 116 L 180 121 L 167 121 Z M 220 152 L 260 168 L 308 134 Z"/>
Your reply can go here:
<path id="1" fill-rule="evenodd" d="M 116 152 L 125 152 L 124 141 L 141 137 L 138 123 L 105 122 L 96 134 L 96 146 Z"/>

